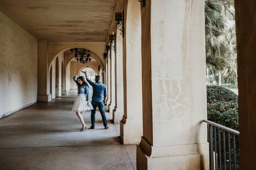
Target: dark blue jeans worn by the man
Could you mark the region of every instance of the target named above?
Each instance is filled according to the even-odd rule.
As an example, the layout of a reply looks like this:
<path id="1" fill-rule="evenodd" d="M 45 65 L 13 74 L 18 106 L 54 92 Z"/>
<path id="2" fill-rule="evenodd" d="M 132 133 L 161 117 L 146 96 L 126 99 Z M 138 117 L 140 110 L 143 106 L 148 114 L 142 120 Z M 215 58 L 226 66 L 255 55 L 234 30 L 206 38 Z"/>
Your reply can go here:
<path id="1" fill-rule="evenodd" d="M 103 125 L 106 127 L 107 126 L 107 118 L 106 118 L 106 114 L 104 111 L 103 101 L 101 101 L 101 102 L 91 101 L 91 105 L 93 106 L 93 110 L 91 110 L 91 126 L 93 126 L 93 127 L 95 126 L 95 112 L 96 112 L 96 108 L 98 107 L 99 112 L 101 112 Z"/>

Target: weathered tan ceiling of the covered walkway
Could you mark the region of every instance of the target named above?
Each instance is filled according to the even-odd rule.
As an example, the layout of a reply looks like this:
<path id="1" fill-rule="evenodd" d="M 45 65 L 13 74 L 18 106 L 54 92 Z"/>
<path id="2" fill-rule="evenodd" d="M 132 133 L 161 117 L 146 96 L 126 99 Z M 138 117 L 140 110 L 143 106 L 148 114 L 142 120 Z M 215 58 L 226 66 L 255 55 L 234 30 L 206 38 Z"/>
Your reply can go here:
<path id="1" fill-rule="evenodd" d="M 116 0 L 0 0 L 0 11 L 37 40 L 105 42 Z"/>

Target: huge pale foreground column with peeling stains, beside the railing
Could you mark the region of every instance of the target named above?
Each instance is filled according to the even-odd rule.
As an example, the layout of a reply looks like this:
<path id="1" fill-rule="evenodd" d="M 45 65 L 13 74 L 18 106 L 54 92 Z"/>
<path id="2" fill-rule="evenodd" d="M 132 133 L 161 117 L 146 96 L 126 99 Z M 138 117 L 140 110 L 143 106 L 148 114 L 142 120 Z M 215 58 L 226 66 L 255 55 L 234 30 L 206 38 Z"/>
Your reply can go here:
<path id="1" fill-rule="evenodd" d="M 204 1 L 149 0 L 141 9 L 137 169 L 209 169 Z"/>

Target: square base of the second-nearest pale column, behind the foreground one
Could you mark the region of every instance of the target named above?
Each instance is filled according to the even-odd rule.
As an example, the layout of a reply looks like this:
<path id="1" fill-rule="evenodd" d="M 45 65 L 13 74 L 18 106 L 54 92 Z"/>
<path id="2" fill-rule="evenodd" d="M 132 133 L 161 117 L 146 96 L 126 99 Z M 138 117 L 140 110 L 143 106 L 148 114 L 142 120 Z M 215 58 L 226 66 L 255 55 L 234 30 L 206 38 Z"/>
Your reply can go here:
<path id="1" fill-rule="evenodd" d="M 123 116 L 120 121 L 120 137 L 123 144 L 135 144 L 141 141 L 143 135 L 142 118 L 127 119 Z"/>

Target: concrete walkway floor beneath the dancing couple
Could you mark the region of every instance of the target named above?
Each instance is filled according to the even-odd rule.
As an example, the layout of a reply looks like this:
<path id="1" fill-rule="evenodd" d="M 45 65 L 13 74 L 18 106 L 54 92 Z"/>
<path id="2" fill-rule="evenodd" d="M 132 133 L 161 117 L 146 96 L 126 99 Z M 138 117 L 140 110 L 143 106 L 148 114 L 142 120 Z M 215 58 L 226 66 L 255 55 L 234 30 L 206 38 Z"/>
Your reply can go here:
<path id="1" fill-rule="evenodd" d="M 0 119 L 0 169 L 136 169 L 136 145 L 123 145 L 119 124 L 99 111 L 95 129 L 79 131 L 71 112 L 77 90 L 48 103 L 36 103 Z M 90 112 L 83 113 L 90 127 Z"/>

